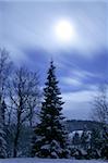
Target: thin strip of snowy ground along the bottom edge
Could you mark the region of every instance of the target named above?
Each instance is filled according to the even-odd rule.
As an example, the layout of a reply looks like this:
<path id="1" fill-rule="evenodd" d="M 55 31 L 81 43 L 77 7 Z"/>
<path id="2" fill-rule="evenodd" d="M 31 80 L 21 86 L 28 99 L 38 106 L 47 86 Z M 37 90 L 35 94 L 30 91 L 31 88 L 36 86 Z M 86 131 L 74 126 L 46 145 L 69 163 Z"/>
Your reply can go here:
<path id="1" fill-rule="evenodd" d="M 0 163 L 108 163 L 108 161 L 101 161 L 101 160 L 51 160 L 51 159 L 5 159 L 0 160 Z"/>

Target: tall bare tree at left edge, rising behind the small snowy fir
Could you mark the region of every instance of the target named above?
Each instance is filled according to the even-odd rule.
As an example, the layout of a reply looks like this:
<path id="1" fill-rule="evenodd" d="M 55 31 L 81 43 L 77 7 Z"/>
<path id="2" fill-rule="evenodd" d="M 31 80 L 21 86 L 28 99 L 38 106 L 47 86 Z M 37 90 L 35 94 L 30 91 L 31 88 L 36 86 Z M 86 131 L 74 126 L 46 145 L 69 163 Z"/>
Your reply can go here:
<path id="1" fill-rule="evenodd" d="M 8 83 L 12 70 L 12 62 L 9 57 L 9 52 L 5 49 L 0 49 L 0 103 L 3 123 L 5 123 L 5 109 L 4 106 L 8 93 Z"/>

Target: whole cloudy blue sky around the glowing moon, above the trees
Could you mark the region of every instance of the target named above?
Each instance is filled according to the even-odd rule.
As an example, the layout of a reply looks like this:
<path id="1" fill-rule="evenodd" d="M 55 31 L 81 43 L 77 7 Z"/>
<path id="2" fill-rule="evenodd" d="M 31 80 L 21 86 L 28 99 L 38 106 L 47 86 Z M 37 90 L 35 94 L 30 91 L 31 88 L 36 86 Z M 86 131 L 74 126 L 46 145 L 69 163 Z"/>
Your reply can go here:
<path id="1" fill-rule="evenodd" d="M 68 20 L 75 29 L 70 42 L 58 40 L 55 26 Z M 52 58 L 68 118 L 88 118 L 96 87 L 108 80 L 108 2 L 2 1 L 0 47 L 12 60 L 38 70 L 44 87 Z"/>

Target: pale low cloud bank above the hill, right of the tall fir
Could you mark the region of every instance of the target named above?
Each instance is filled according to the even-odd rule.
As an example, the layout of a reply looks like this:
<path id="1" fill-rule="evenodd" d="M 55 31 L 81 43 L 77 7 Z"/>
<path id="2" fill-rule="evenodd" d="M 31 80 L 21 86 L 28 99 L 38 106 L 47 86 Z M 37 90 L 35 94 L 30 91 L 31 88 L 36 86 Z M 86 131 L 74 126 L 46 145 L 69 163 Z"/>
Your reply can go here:
<path id="1" fill-rule="evenodd" d="M 96 90 L 63 93 L 63 112 L 69 118 L 89 118 L 93 97 Z"/>

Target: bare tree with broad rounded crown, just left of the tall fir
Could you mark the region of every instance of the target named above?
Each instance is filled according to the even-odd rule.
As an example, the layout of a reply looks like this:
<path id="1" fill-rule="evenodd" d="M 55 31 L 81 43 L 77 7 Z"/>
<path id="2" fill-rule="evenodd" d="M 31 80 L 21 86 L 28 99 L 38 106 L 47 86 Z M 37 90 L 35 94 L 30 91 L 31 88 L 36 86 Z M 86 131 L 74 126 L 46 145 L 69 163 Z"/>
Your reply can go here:
<path id="1" fill-rule="evenodd" d="M 17 155 L 19 139 L 24 124 L 33 126 L 35 110 L 39 102 L 39 87 L 37 73 L 21 67 L 15 71 L 10 85 L 10 100 L 12 117 L 16 126 L 14 135 L 13 156 Z"/>

